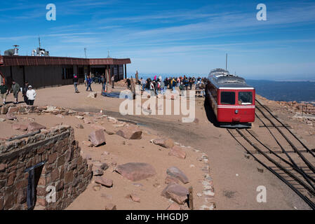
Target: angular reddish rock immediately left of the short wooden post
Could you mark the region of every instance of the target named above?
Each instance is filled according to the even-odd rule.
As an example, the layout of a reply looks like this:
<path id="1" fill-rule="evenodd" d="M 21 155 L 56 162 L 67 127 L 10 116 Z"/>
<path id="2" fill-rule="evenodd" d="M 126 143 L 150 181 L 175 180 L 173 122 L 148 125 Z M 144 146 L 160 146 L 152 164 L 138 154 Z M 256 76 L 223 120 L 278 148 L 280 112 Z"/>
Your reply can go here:
<path id="1" fill-rule="evenodd" d="M 173 200 L 177 204 L 185 204 L 188 199 L 188 190 L 176 183 L 169 184 L 161 193 L 163 197 Z"/>

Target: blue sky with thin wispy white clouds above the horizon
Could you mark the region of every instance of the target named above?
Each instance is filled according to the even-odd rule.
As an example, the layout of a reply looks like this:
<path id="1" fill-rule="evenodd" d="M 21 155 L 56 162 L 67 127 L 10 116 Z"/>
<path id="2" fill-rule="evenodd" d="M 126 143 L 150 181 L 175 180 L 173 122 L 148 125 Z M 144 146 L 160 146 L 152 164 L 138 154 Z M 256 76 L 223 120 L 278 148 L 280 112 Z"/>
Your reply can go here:
<path id="1" fill-rule="evenodd" d="M 55 4 L 56 20 L 46 6 Z M 267 20 L 257 20 L 264 3 Z M 39 46 L 51 56 L 130 58 L 128 74 L 315 80 L 315 1 L 1 1 L 0 50 Z"/>

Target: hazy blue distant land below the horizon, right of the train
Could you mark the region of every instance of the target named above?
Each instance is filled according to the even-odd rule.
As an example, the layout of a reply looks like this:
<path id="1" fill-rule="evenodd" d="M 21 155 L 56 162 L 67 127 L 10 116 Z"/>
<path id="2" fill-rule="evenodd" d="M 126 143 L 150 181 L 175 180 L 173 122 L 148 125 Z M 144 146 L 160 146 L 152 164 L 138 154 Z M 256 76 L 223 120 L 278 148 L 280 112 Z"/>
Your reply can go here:
<path id="1" fill-rule="evenodd" d="M 276 101 L 315 101 L 315 82 L 246 80 L 262 97 Z"/>

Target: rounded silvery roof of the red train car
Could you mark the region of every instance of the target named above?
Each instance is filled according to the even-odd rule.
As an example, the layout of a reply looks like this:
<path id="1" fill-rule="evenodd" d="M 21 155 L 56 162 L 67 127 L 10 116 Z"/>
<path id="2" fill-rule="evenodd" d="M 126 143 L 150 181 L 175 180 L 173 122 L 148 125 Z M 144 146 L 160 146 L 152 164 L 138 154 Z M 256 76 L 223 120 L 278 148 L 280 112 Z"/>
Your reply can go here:
<path id="1" fill-rule="evenodd" d="M 213 69 L 210 71 L 208 80 L 218 89 L 254 89 L 252 86 L 246 84 L 244 78 L 234 76 L 224 69 Z"/>

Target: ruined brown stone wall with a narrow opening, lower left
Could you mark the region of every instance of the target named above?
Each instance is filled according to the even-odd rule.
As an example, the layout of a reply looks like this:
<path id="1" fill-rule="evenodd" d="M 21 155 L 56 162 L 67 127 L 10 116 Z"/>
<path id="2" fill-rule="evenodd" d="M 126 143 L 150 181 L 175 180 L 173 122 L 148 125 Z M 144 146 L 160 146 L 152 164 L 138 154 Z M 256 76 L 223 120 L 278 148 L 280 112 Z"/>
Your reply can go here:
<path id="1" fill-rule="evenodd" d="M 0 144 L 0 210 L 27 209 L 29 173 L 25 170 L 41 162 L 44 165 L 35 170 L 35 209 L 65 209 L 93 177 L 80 151 L 68 125 Z M 47 202 L 48 186 L 55 187 L 56 202 Z"/>

